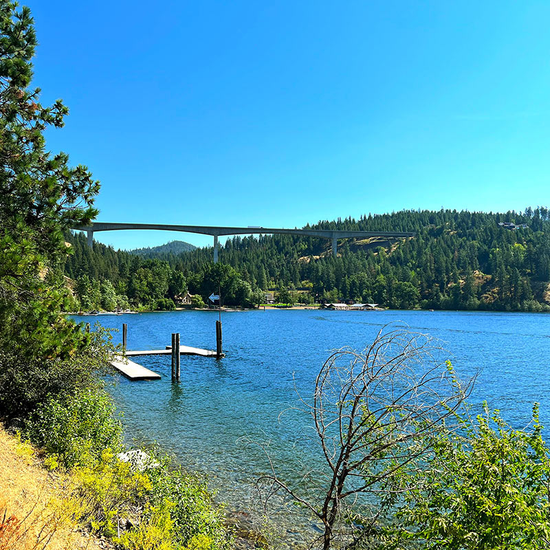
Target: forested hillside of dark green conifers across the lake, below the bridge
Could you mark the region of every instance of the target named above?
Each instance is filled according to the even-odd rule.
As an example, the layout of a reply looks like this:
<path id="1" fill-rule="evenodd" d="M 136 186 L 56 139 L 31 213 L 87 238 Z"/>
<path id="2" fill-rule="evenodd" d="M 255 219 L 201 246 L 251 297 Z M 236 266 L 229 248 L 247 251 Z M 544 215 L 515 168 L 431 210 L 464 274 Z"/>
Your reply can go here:
<path id="1" fill-rule="evenodd" d="M 506 221 L 527 227 L 498 225 Z M 236 236 L 221 247 L 220 264 L 214 267 L 212 248 L 162 252 L 162 259 L 148 254 L 151 257 L 144 259 L 98 243 L 90 250 L 83 235 L 73 234 L 67 236 L 74 254 L 65 274 L 76 281 L 80 300 L 87 286 L 95 285 L 96 307 L 102 287 L 109 285 L 119 301 L 127 296 L 132 305 L 156 307 L 165 298 L 177 301 L 187 289 L 206 300 L 220 283 L 225 303 L 236 305 L 259 303 L 259 290 L 270 288 L 281 290 L 285 302 L 355 300 L 404 309 L 540 311 L 550 304 L 547 208 L 505 214 L 403 210 L 311 227 L 406 231 L 415 236 L 344 239 L 338 243 L 337 258 L 325 239 Z"/>

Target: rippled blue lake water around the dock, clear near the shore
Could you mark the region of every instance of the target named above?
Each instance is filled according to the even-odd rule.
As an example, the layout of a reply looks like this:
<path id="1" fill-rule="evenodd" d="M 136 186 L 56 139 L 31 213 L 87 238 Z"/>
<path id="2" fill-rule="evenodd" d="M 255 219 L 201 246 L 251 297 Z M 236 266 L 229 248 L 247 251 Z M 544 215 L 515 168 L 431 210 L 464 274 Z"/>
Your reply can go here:
<path id="1" fill-rule="evenodd" d="M 159 349 L 170 334 L 181 344 L 215 348 L 214 311 L 174 311 L 76 317 L 104 327 L 128 323 L 129 349 Z M 274 463 L 292 478 L 319 460 L 311 418 L 283 410 L 309 397 L 332 349 L 364 349 L 381 327 L 404 322 L 443 342 L 459 376 L 478 373 L 470 400 L 484 399 L 517 428 L 540 402 L 550 428 L 550 316 L 466 311 L 243 311 L 222 314 L 225 358 L 181 357 L 181 383 L 170 382 L 170 356 L 136 361 L 162 375 L 155 382 L 120 377 L 112 389 L 124 412 L 126 434 L 157 441 L 188 470 L 208 474 L 220 500 L 242 507 L 266 471 L 259 448 L 243 437 L 269 442 Z M 120 342 L 122 333 L 115 333 Z M 294 474 L 293 474 L 294 472 Z"/>

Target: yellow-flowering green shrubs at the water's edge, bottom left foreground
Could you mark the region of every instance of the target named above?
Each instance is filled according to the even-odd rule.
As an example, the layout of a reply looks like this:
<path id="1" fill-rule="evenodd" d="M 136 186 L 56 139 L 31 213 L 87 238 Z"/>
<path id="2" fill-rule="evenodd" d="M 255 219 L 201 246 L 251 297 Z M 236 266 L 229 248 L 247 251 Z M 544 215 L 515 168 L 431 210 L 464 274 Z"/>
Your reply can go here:
<path id="1" fill-rule="evenodd" d="M 224 527 L 223 510 L 212 502 L 206 483 L 167 458 L 156 458 L 144 472 L 121 462 L 106 449 L 75 476 L 91 528 L 128 550 L 230 550 L 232 536 Z M 137 527 L 117 533 L 117 517 L 135 518 Z"/>

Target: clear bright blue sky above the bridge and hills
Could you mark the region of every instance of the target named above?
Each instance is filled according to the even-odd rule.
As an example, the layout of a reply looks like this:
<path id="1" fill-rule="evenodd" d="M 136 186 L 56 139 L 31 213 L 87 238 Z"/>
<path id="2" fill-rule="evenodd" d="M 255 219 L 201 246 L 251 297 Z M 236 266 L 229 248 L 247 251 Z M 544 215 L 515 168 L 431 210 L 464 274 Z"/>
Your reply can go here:
<path id="1" fill-rule="evenodd" d="M 550 204 L 550 2 L 28 0 L 98 221 Z M 105 232 L 115 247 L 210 237 Z"/>

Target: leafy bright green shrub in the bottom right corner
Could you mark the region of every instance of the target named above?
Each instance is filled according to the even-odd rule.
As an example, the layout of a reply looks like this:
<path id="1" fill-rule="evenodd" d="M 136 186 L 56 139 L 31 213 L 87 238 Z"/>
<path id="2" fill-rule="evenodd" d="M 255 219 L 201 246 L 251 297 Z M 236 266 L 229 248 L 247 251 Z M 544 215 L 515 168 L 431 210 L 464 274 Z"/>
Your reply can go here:
<path id="1" fill-rule="evenodd" d="M 550 545 L 550 458 L 538 405 L 531 431 L 494 411 L 443 432 L 431 459 L 408 479 L 395 548 L 515 550 Z M 388 545 L 388 547 L 390 547 Z"/>

